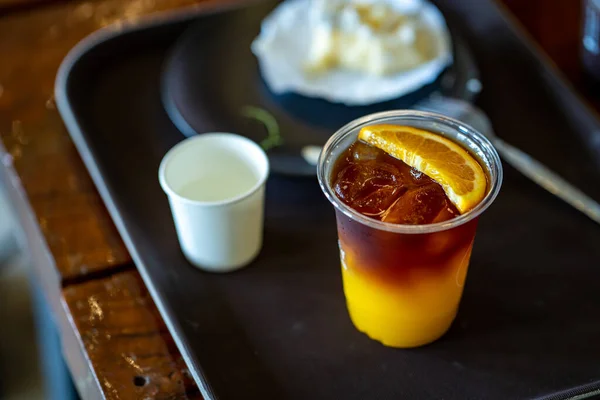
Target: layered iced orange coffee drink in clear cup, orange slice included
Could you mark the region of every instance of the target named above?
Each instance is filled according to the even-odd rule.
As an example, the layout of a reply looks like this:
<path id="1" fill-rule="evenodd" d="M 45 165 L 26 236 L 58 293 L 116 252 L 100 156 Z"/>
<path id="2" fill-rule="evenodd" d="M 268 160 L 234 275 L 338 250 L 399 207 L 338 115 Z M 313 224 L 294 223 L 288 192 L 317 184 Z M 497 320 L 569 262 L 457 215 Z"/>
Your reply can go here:
<path id="1" fill-rule="evenodd" d="M 441 337 L 456 317 L 478 217 L 500 187 L 492 145 L 458 121 L 394 111 L 338 131 L 318 169 L 356 328 L 392 347 Z"/>

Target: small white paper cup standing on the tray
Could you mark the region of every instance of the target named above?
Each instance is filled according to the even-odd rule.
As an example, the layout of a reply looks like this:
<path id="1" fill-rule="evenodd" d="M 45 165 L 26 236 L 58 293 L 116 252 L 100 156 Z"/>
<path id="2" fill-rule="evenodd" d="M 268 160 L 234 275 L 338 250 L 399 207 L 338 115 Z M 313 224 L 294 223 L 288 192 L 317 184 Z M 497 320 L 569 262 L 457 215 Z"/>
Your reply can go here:
<path id="1" fill-rule="evenodd" d="M 159 180 L 190 263 L 228 272 L 258 255 L 268 174 L 260 146 L 231 133 L 197 135 L 169 150 Z"/>

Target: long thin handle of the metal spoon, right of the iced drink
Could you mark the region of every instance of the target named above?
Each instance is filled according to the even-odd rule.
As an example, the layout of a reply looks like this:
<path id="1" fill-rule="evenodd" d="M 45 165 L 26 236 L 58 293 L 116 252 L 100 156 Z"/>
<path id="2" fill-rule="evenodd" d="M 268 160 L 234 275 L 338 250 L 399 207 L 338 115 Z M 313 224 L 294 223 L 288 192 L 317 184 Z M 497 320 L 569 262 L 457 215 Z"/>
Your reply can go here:
<path id="1" fill-rule="evenodd" d="M 516 147 L 495 138 L 494 146 L 523 175 L 600 224 L 600 204 Z"/>

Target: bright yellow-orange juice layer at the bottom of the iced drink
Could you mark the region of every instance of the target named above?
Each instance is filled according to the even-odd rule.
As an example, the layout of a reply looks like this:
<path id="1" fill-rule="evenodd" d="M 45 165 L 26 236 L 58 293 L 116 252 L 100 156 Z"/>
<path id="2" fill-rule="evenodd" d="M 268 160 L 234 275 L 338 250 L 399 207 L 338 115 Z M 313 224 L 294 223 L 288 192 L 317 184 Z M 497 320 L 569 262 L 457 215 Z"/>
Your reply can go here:
<path id="1" fill-rule="evenodd" d="M 435 268 L 410 268 L 410 280 L 382 280 L 356 265 L 342 245 L 342 279 L 350 318 L 371 339 L 390 347 L 417 347 L 441 337 L 456 316 L 471 242 Z"/>

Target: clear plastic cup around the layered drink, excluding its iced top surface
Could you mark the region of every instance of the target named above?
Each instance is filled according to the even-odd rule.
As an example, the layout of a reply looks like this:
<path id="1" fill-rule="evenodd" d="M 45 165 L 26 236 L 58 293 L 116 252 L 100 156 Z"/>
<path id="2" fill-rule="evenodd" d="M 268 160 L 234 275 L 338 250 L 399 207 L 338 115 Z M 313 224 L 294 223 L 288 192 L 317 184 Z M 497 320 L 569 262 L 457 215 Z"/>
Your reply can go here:
<path id="1" fill-rule="evenodd" d="M 428 225 L 380 222 L 344 204 L 331 185 L 333 166 L 357 140 L 360 128 L 372 124 L 413 126 L 462 145 L 487 172 L 483 201 L 455 219 Z M 369 115 L 329 139 L 319 159 L 318 177 L 335 207 L 344 293 L 356 328 L 391 347 L 417 347 L 441 337 L 456 317 L 478 218 L 492 204 L 502 182 L 500 158 L 489 140 L 437 114 Z"/>

